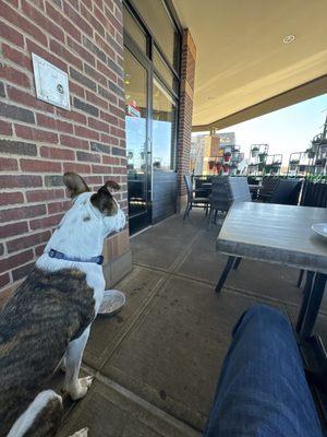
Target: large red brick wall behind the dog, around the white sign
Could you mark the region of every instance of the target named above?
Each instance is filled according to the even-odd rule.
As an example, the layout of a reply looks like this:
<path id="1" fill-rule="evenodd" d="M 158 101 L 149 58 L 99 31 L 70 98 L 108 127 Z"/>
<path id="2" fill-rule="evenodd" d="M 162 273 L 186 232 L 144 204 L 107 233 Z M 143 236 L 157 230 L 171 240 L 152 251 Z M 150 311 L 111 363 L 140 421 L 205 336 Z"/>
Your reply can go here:
<path id="1" fill-rule="evenodd" d="M 119 181 L 126 208 L 126 162 L 121 0 L 0 0 L 0 21 L 1 292 L 70 206 L 62 174 Z M 69 74 L 70 111 L 36 99 L 32 52 Z"/>

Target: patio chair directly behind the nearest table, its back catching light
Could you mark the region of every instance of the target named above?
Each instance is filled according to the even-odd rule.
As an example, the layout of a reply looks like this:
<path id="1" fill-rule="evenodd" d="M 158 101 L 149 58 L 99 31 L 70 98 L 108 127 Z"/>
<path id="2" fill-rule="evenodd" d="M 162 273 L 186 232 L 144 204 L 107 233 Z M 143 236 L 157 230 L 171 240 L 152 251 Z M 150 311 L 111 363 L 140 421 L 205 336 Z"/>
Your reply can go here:
<path id="1" fill-rule="evenodd" d="M 217 213 L 227 213 L 234 202 L 252 202 L 251 192 L 246 177 L 216 176 L 213 177 L 213 191 L 209 196 L 210 213 L 209 225 L 211 224 L 213 212 L 215 211 L 215 223 Z"/>

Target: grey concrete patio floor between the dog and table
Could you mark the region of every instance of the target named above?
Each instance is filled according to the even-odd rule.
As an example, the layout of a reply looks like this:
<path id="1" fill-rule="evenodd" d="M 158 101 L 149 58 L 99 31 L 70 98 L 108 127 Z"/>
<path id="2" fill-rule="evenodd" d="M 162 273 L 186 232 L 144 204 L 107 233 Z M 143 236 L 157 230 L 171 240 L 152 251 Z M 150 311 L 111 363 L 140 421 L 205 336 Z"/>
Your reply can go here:
<path id="1" fill-rule="evenodd" d="M 296 319 L 294 269 L 243 260 L 215 294 L 226 262 L 218 232 L 197 211 L 132 237 L 133 270 L 117 285 L 126 305 L 95 321 L 83 359 L 95 381 L 68 405 L 60 437 L 84 426 L 90 437 L 199 436 L 241 314 L 265 303 Z M 326 296 L 316 330 L 327 343 Z"/>

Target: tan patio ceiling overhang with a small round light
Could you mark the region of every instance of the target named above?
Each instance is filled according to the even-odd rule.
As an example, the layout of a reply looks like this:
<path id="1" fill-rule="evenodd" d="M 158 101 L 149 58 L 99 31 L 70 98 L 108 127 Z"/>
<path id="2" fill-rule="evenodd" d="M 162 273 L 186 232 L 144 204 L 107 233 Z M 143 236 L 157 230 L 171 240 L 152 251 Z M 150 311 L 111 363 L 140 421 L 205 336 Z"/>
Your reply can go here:
<path id="1" fill-rule="evenodd" d="M 228 127 L 326 92 L 326 0 L 173 4 L 197 48 L 193 130 Z M 288 35 L 295 39 L 284 44 Z"/>

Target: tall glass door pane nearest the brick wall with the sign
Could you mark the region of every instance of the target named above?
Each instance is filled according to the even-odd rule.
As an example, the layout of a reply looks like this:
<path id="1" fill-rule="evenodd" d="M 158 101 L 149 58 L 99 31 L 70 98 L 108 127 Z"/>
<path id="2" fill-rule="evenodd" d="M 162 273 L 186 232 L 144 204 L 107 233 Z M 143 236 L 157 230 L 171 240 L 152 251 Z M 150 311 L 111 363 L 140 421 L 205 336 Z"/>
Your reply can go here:
<path id="1" fill-rule="evenodd" d="M 150 223 L 149 73 L 125 47 L 125 125 L 131 234 Z"/>

